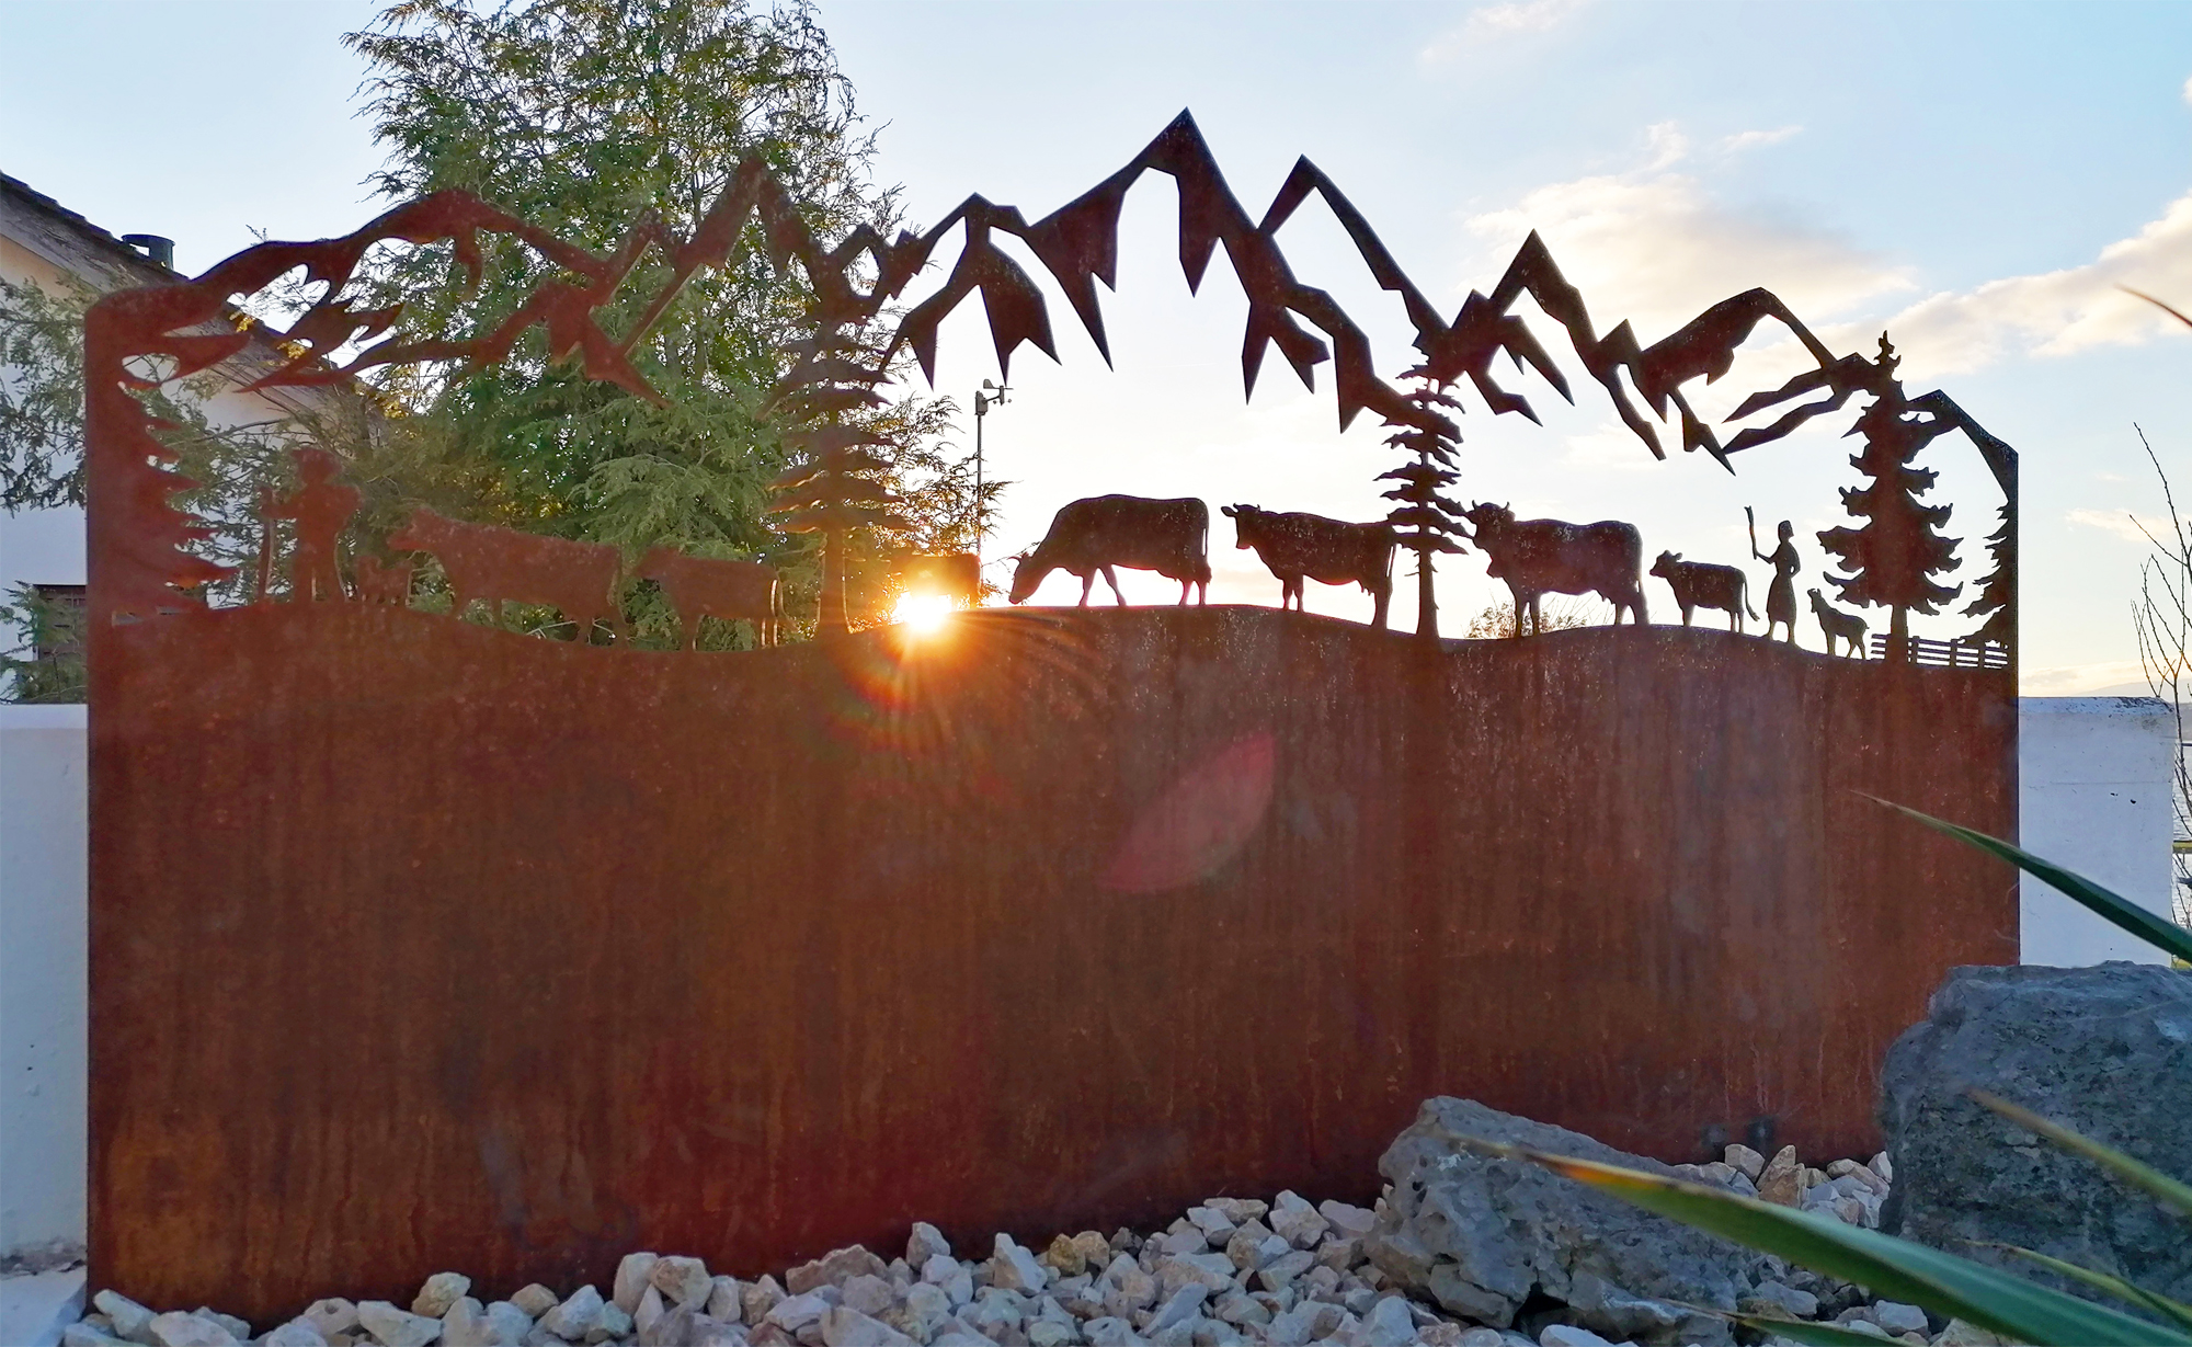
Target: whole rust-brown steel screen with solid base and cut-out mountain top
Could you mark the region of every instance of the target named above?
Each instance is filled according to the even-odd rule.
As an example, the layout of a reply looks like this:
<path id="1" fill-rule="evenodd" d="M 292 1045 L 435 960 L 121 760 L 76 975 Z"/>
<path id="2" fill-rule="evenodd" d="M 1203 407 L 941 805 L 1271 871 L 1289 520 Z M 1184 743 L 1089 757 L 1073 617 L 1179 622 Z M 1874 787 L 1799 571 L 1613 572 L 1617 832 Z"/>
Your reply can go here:
<path id="1" fill-rule="evenodd" d="M 1905 399 L 1885 342 L 1835 358 L 1765 292 L 1655 347 L 1600 338 L 1537 239 L 1447 325 L 1306 160 L 1256 224 L 1186 118 L 1032 226 L 971 197 L 925 237 L 822 248 L 745 165 L 693 239 L 642 224 L 614 257 L 456 193 L 263 244 L 101 301 L 85 329 L 101 1283 L 272 1316 L 441 1268 L 498 1294 L 601 1283 L 638 1246 L 750 1275 L 892 1244 L 914 1218 L 1048 1237 L 1214 1191 L 1366 1200 L 1434 1093 L 1670 1158 L 1760 1114 L 1811 1154 L 1870 1150 L 1885 1044 L 1946 967 L 2017 957 L 2012 875 L 1865 799 L 2014 834 L 2014 669 L 1900 658 L 1903 608 L 1942 601 L 1922 586 L 1946 511 L 1905 500 L 1894 546 L 1843 540 L 1854 577 L 1828 579 L 1896 610 L 1898 658 L 1876 663 L 1633 625 L 1440 643 L 1254 608 L 969 612 L 932 643 L 835 630 L 844 542 L 892 505 L 842 419 L 888 362 L 859 333 L 962 224 L 892 344 L 929 364 L 936 322 L 982 292 L 1000 358 L 1050 347 L 991 228 L 1100 340 L 1092 279 L 1111 281 L 1144 169 L 1181 186 L 1190 279 L 1217 244 L 1243 276 L 1247 377 L 1265 342 L 1304 377 L 1337 351 L 1342 419 L 1377 410 L 1416 454 L 1388 476 L 1425 559 L 1495 548 L 1495 516 L 1442 494 L 1445 390 L 1466 377 L 1526 412 L 1488 373 L 1508 351 L 1565 393 L 1510 312 L 1530 294 L 1653 452 L 1626 388 L 1723 463 L 1863 393 L 1863 469 L 1911 500 L 1911 454 L 1964 430 L 2006 491 L 1973 652 L 2012 647 L 2014 454 L 1946 397 Z M 1407 303 L 1412 393 L 1278 252 L 1311 191 Z M 397 316 L 340 298 L 373 241 L 449 239 L 465 261 L 480 235 L 563 274 L 469 340 L 375 342 Z M 829 537 L 822 641 L 594 647 L 410 610 L 403 586 L 351 599 L 302 520 L 355 498 L 309 461 L 267 511 L 300 522 L 298 592 L 191 597 L 224 570 L 193 555 L 125 380 L 147 355 L 160 377 L 232 358 L 232 296 L 292 265 L 329 281 L 267 384 L 498 360 L 537 322 L 550 353 L 644 397 L 644 318 L 609 336 L 596 314 L 642 257 L 669 261 L 660 312 L 747 235 L 818 292 L 778 406 L 811 454 L 780 483 L 787 527 Z M 1819 371 L 1738 415 L 1824 397 L 1723 445 L 1681 384 L 1765 316 Z M 1881 500 L 1857 505 L 1885 518 Z M 401 546 L 432 551 L 421 518 Z M 476 540 L 502 562 L 548 555 L 493 533 Z M 1565 584 L 1493 559 L 1517 599 Z M 355 590 L 388 597 L 379 562 Z"/>

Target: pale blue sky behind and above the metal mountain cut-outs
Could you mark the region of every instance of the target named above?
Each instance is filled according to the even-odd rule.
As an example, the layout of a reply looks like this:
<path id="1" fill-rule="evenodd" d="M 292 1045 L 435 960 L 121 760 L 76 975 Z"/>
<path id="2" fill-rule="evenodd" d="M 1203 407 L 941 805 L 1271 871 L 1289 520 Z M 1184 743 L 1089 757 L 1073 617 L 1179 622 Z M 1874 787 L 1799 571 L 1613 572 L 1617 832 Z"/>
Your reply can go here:
<path id="1" fill-rule="evenodd" d="M 0 0 L 0 171 L 116 233 L 175 237 L 186 272 L 254 230 L 346 233 L 377 211 L 362 180 L 381 156 L 340 35 L 375 9 Z M 822 20 L 879 132 L 875 171 L 903 184 L 916 226 L 973 191 L 1035 219 L 1192 110 L 1252 215 L 1309 156 L 1447 314 L 1539 230 L 1600 331 L 1629 318 L 1651 342 L 1754 285 L 1837 351 L 1870 353 L 1885 329 L 1911 393 L 1946 390 L 2021 452 L 2025 691 L 2144 687 L 2137 522 L 2164 500 L 2142 432 L 2192 494 L 2192 333 L 2120 287 L 2192 307 L 2192 7 L 824 0 Z M 1013 483 L 991 557 L 1041 537 L 1065 500 L 1107 491 L 1383 513 L 1374 474 L 1401 459 L 1372 417 L 1339 432 L 1331 366 L 1304 390 L 1274 360 L 1243 399 L 1238 285 L 1221 259 L 1190 296 L 1175 228 L 1171 184 L 1144 178 L 1105 296 L 1111 366 L 1050 290 L 1061 364 L 1024 347 L 986 421 L 989 472 Z M 1396 301 L 1328 215 L 1302 208 L 1280 241 L 1370 331 L 1385 375 L 1409 364 Z M 1795 522 L 1797 584 L 1819 584 L 1815 533 L 1846 522 L 1837 491 L 1863 485 L 1854 441 L 1837 439 L 1850 417 L 1736 456 L 1734 476 L 1679 450 L 1659 463 L 1559 329 L 1523 314 L 1576 401 L 1506 380 L 1541 415 L 1532 426 L 1464 397 L 1458 496 L 1622 518 L 1646 555 L 1732 564 L 1754 507 L 1767 548 L 1778 520 Z M 1725 415 L 1795 369 L 1765 325 L 1694 399 Z M 1000 373 L 969 303 L 945 327 L 938 390 L 967 406 Z M 962 448 L 971 432 L 962 417 Z M 1949 579 L 1977 581 L 1999 491 L 1962 439 L 1920 465 L 1940 472 L 1929 500 L 1953 507 L 1944 533 L 1964 540 Z M 1212 601 L 1276 603 L 1278 581 L 1232 544 L 1217 520 Z M 1769 570 L 1749 570 L 1762 605 Z M 1504 601 L 1477 553 L 1438 575 L 1449 634 Z M 1313 612 L 1368 616 L 1352 588 L 1309 588 Z M 1059 575 L 1039 601 L 1074 590 Z M 1129 573 L 1127 592 L 1177 588 Z M 1668 590 L 1646 592 L 1672 621 Z M 1414 625 L 1409 579 L 1394 625 Z M 1914 625 L 1946 636 L 1973 619 Z M 1808 614 L 1800 636 L 1819 647 Z"/>

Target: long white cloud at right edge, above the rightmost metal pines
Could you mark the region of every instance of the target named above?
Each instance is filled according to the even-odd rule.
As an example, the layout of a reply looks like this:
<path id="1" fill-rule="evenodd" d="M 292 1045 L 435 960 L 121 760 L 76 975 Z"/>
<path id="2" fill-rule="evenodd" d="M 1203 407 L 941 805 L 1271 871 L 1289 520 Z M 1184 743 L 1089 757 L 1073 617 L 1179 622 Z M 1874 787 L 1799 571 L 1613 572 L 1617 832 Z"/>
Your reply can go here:
<path id="1" fill-rule="evenodd" d="M 2126 287 L 2170 303 L 2192 301 L 2192 191 L 2170 202 L 2161 219 L 2109 244 L 2085 265 L 1931 294 L 1890 318 L 1887 331 L 1929 377 L 2010 353 L 2069 355 L 2185 331 L 2161 309 L 2124 294 Z"/>

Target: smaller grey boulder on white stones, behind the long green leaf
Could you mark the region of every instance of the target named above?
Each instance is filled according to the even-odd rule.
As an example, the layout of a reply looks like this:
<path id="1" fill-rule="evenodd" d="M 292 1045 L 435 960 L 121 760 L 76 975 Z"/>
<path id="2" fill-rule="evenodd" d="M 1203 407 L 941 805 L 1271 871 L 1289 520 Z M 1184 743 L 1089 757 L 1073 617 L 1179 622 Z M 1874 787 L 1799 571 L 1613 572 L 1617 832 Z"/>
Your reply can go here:
<path id="1" fill-rule="evenodd" d="M 1668 1301 L 1734 1310 L 1758 1281 L 1758 1255 L 1539 1165 L 1477 1154 L 1466 1139 L 1670 1174 L 1657 1161 L 1473 1099 L 1427 1099 L 1379 1161 L 1392 1196 L 1366 1240 L 1370 1259 L 1398 1286 L 1497 1327 L 1543 1294 L 1613 1338 L 1729 1340 L 1723 1321 Z"/>

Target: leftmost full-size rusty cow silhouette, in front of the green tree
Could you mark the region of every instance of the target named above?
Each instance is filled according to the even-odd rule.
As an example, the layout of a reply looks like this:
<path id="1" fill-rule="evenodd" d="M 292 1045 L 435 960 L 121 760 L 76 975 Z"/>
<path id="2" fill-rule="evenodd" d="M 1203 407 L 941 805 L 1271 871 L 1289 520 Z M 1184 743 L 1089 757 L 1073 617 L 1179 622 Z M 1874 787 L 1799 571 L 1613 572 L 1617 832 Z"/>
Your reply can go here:
<path id="1" fill-rule="evenodd" d="M 388 546 L 434 553 L 456 599 L 449 616 L 463 619 L 473 599 L 487 599 L 500 625 L 504 603 L 548 603 L 572 621 L 581 645 L 592 641 L 598 616 L 620 641 L 629 636 L 616 601 L 623 557 L 614 546 L 465 524 L 423 505 L 388 535 Z"/>

